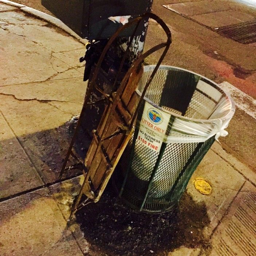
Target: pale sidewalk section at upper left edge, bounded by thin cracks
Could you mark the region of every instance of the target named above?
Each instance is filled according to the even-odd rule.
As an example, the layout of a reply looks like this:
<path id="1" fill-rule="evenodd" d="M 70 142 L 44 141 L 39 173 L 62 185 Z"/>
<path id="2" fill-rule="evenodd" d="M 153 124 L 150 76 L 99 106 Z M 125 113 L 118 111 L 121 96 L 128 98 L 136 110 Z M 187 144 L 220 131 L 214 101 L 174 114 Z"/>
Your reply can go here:
<path id="1" fill-rule="evenodd" d="M 1 28 L 0 42 L 1 86 L 44 81 L 58 73 L 51 66 L 51 52 L 38 44 Z"/>

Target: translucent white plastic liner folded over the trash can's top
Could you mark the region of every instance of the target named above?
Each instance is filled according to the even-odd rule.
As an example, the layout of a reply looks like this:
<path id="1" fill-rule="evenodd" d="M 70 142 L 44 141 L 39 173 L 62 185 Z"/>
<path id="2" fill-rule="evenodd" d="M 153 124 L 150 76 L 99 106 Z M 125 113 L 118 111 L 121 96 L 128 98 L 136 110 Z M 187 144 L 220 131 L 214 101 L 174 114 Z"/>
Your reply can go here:
<path id="1" fill-rule="evenodd" d="M 154 67 L 154 65 L 144 67 L 143 77 L 137 89 L 139 95 Z M 167 94 L 164 97 L 168 98 L 168 91 L 164 91 L 164 86 L 168 82 L 166 80 L 168 74 L 173 72 L 182 72 L 184 75 L 189 73 L 194 77 L 194 92 L 191 94 L 189 105 L 183 115 L 180 110 L 172 109 L 171 104 L 169 106 L 167 104 L 160 105 L 163 93 Z M 177 77 L 175 78 L 177 79 Z M 179 83 L 178 79 L 177 83 Z M 178 89 L 182 90 L 182 87 L 178 86 Z M 169 96 L 172 97 L 171 94 L 174 92 L 170 90 L 169 93 Z M 181 95 L 180 104 L 182 104 L 182 95 L 185 95 L 186 92 L 181 91 L 179 94 Z M 161 146 L 158 141 L 198 143 L 204 142 L 212 136 L 215 136 L 216 140 L 220 136 L 226 136 L 228 132 L 225 129 L 235 112 L 234 102 L 216 83 L 189 70 L 172 66 L 161 65 L 159 67 L 144 100 L 143 114 L 136 124 L 139 127 L 138 138 L 153 150 L 156 147 L 158 152 Z M 168 100 L 162 101 L 162 103 L 168 103 Z M 179 105 L 179 102 L 176 105 Z M 149 141 L 152 139 L 154 139 L 154 145 Z"/>

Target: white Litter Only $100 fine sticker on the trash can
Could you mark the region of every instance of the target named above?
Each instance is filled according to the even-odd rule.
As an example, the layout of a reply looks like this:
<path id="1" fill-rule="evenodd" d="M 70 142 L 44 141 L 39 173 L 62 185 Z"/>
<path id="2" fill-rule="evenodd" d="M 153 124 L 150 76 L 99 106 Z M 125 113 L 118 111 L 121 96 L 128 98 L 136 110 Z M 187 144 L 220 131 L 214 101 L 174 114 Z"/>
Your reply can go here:
<path id="1" fill-rule="evenodd" d="M 170 115 L 145 102 L 137 140 L 152 150 L 159 152 L 169 120 Z"/>

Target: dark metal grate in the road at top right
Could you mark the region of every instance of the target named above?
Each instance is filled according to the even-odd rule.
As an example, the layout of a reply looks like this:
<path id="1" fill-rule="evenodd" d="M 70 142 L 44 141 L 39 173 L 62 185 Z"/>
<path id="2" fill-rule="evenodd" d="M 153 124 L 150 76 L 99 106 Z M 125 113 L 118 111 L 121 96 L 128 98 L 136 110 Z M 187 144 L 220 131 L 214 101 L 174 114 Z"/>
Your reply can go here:
<path id="1" fill-rule="evenodd" d="M 216 31 L 218 34 L 239 43 L 248 44 L 256 42 L 256 20 L 220 27 Z"/>

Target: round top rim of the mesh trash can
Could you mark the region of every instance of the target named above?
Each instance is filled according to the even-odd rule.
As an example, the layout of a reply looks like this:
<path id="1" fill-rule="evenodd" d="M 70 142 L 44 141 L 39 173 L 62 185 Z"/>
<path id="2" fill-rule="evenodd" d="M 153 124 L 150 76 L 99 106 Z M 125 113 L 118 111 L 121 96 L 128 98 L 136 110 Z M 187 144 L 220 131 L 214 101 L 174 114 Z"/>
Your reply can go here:
<path id="1" fill-rule="evenodd" d="M 156 65 L 146 65 L 146 66 L 144 66 L 143 68 L 144 68 L 144 71 L 149 71 L 149 70 L 151 70 L 151 69 L 153 70 L 155 66 L 156 66 Z M 220 88 L 220 86 L 219 86 L 217 83 L 213 82 L 213 81 L 210 80 L 209 78 L 204 77 L 203 75 L 200 75 L 200 74 L 195 73 L 195 72 L 193 72 L 193 71 L 190 71 L 190 70 L 187 70 L 187 69 L 183 69 L 183 68 L 181 68 L 181 67 L 175 67 L 175 66 L 169 66 L 169 65 L 160 65 L 159 68 L 158 68 L 158 70 L 161 70 L 162 68 L 173 68 L 173 69 L 183 70 L 183 71 L 187 71 L 187 72 L 189 72 L 189 73 L 198 75 L 199 77 L 201 77 L 201 78 L 205 79 L 207 82 L 209 82 L 210 85 L 213 85 L 213 87 L 214 87 L 215 89 L 217 89 L 217 90 L 219 90 L 221 93 L 223 93 L 223 94 L 226 96 L 226 99 L 230 102 L 230 106 L 231 106 L 231 107 L 230 107 L 229 112 L 226 113 L 226 115 L 221 116 L 221 117 L 219 117 L 219 118 L 216 118 L 216 119 L 195 119 L 195 118 L 191 118 L 191 117 L 186 117 L 186 116 L 178 115 L 178 114 L 176 114 L 176 113 L 174 113 L 174 112 L 168 111 L 168 110 L 166 110 L 166 109 L 164 109 L 164 108 L 158 106 L 158 105 L 155 104 L 153 101 L 151 101 L 149 98 L 147 98 L 146 96 L 144 96 L 144 100 L 146 100 L 147 102 L 149 102 L 149 103 L 150 103 L 151 105 L 153 105 L 155 108 L 157 108 L 157 109 L 159 109 L 159 110 L 162 110 L 163 112 L 166 112 L 166 113 L 168 113 L 168 114 L 170 114 L 170 115 L 172 115 L 172 116 L 176 116 L 176 117 L 179 117 L 180 119 L 184 119 L 184 120 L 187 120 L 187 121 L 190 121 L 190 122 L 192 121 L 192 122 L 194 122 L 194 123 L 213 123 L 214 121 L 217 121 L 217 120 L 220 120 L 220 119 L 224 119 L 225 117 L 231 115 L 231 113 L 234 112 L 235 103 L 234 103 L 234 101 L 232 100 L 232 98 L 229 96 L 228 93 L 224 92 L 224 90 L 222 90 L 222 89 Z M 139 95 L 139 97 L 141 96 L 141 92 L 139 91 L 138 88 L 136 89 L 136 93 Z"/>

